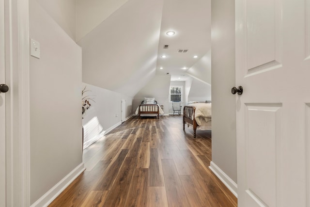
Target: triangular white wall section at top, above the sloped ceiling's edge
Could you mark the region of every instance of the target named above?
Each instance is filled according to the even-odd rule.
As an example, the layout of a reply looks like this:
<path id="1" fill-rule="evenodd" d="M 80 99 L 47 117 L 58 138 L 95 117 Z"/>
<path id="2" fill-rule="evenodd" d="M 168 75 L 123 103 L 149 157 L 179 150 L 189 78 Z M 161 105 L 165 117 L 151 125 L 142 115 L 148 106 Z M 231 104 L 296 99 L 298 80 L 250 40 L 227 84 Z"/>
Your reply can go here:
<path id="1" fill-rule="evenodd" d="M 77 41 L 126 2 L 127 0 L 77 0 Z"/>

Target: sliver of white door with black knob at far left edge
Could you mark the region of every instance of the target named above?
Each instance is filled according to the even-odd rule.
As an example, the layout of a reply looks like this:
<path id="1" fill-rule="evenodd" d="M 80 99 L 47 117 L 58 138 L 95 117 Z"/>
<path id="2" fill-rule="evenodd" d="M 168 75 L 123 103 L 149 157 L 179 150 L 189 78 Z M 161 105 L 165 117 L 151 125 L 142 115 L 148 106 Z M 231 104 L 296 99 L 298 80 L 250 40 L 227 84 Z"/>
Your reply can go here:
<path id="1" fill-rule="evenodd" d="M 5 83 L 4 0 L 0 0 L 0 84 Z M 0 207 L 6 205 L 5 94 L 0 93 Z"/>

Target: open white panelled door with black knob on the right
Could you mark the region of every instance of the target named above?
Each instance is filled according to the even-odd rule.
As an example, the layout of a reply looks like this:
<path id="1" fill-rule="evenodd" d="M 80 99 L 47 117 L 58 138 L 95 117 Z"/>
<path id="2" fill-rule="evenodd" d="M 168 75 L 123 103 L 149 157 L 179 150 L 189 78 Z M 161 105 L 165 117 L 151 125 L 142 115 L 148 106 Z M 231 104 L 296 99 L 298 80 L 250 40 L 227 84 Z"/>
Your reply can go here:
<path id="1" fill-rule="evenodd" d="M 235 0 L 238 207 L 310 207 L 310 0 Z"/>

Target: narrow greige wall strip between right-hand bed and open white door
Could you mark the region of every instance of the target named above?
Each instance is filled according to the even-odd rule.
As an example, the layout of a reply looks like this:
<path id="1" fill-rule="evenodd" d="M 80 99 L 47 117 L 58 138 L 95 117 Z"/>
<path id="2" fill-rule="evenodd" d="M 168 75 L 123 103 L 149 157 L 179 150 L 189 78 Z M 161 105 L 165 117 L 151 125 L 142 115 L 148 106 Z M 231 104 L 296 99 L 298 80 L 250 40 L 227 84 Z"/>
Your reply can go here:
<path id="1" fill-rule="evenodd" d="M 212 161 L 237 183 L 234 0 L 212 0 Z"/>

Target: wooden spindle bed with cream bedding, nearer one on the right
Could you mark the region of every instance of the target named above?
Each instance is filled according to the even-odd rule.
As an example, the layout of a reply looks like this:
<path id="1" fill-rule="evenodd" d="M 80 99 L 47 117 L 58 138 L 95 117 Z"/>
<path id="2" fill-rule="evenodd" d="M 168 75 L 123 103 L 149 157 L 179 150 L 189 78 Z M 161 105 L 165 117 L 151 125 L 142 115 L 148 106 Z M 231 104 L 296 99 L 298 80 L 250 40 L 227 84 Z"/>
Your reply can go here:
<path id="1" fill-rule="evenodd" d="M 196 137 L 196 129 L 211 130 L 211 103 L 194 103 L 183 108 L 183 130 L 191 125 Z"/>

